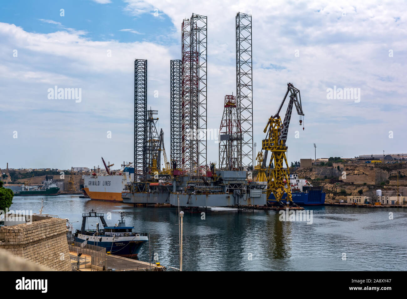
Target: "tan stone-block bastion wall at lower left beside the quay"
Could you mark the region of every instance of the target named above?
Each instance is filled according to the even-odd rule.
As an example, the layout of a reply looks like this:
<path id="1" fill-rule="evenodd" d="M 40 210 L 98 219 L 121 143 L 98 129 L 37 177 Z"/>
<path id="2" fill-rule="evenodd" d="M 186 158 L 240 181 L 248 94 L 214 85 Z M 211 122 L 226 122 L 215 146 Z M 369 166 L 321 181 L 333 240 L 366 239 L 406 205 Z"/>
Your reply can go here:
<path id="1" fill-rule="evenodd" d="M 66 220 L 33 216 L 31 224 L 0 229 L 0 249 L 56 271 L 71 271 Z"/>

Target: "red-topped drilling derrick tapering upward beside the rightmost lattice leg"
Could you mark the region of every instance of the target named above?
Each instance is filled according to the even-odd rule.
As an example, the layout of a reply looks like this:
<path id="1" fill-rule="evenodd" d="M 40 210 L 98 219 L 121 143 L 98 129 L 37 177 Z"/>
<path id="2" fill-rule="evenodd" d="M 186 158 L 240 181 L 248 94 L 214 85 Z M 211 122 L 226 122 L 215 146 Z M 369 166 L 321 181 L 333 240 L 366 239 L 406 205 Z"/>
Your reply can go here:
<path id="1" fill-rule="evenodd" d="M 237 118 L 236 98 L 225 96 L 225 106 L 219 129 L 219 168 L 239 170 L 241 157 L 239 144 L 242 140 L 240 120 Z"/>

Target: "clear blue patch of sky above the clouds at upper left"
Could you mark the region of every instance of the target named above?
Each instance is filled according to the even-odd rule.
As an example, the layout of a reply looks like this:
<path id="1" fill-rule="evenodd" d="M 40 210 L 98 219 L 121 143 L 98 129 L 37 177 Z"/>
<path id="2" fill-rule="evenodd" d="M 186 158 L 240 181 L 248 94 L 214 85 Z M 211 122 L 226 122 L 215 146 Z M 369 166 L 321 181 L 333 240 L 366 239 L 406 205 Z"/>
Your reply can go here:
<path id="1" fill-rule="evenodd" d="M 166 15 L 154 17 L 153 14 L 143 13 L 134 16 L 124 11 L 125 7 L 124 2 L 117 0 L 104 5 L 90 0 L 17 0 L 2 2 L 0 17 L 2 22 L 21 26 L 28 32 L 52 33 L 64 27 L 74 28 L 85 31 L 86 37 L 95 41 L 151 41 L 157 35 L 168 35 L 175 30 Z M 60 9 L 64 9 L 63 17 L 60 16 Z M 63 27 L 50 21 L 62 23 Z M 120 31 L 123 29 L 131 31 Z"/>

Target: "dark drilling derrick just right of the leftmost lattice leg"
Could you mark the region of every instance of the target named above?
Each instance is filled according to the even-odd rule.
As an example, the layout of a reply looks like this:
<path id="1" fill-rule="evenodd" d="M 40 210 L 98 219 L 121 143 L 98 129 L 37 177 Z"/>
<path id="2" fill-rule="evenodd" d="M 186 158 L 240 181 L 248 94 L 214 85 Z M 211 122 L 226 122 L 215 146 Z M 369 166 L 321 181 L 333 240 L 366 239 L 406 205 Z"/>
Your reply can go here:
<path id="1" fill-rule="evenodd" d="M 160 137 L 157 131 L 158 117 L 157 110 L 147 110 L 147 169 L 150 175 L 154 175 L 155 172 L 160 172 L 161 166 L 161 151 L 160 151 Z"/>

